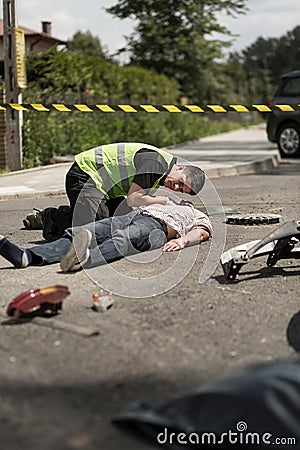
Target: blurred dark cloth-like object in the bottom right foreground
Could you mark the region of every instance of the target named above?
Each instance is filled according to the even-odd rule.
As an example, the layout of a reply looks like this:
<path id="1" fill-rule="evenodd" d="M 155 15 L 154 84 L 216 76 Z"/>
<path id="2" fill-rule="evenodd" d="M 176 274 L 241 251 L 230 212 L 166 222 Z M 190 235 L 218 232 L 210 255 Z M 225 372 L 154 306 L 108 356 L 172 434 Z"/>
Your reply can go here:
<path id="1" fill-rule="evenodd" d="M 300 362 L 251 367 L 160 406 L 138 401 L 114 422 L 172 450 L 298 448 Z"/>

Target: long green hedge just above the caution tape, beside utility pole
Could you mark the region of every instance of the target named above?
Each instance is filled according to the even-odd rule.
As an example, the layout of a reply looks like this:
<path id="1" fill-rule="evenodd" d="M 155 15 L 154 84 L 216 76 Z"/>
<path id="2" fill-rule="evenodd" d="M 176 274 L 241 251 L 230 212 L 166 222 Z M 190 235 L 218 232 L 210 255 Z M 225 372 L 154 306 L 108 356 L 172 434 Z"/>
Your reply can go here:
<path id="1" fill-rule="evenodd" d="M 43 102 L 134 101 L 174 102 L 178 86 L 154 71 L 141 67 L 120 67 L 100 56 L 58 52 L 32 52 L 27 60 L 27 101 L 36 93 Z"/>

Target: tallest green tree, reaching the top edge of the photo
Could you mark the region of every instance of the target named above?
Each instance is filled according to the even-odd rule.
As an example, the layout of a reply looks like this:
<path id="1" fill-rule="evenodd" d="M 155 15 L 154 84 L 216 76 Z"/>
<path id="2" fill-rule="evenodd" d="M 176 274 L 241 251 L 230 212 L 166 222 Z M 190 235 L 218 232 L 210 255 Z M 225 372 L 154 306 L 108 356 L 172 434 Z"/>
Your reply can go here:
<path id="1" fill-rule="evenodd" d="M 246 1 L 119 0 L 107 11 L 120 19 L 137 21 L 126 48 L 120 49 L 129 51 L 132 64 L 175 78 L 182 94 L 194 101 L 210 101 L 221 84 L 216 61 L 226 45 L 212 35 L 231 35 L 220 25 L 217 14 L 243 13 Z"/>

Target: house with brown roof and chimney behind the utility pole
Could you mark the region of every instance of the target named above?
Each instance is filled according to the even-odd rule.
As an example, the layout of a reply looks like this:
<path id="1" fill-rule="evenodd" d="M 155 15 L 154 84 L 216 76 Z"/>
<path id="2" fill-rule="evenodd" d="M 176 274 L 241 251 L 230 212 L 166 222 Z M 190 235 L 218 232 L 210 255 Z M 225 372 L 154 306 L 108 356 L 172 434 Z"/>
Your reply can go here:
<path id="1" fill-rule="evenodd" d="M 51 22 L 42 22 L 42 31 L 34 31 L 19 26 L 25 36 L 26 54 L 29 52 L 43 52 L 55 45 L 67 45 L 66 41 L 57 39 L 51 34 Z M 3 19 L 0 19 L 0 79 L 4 79 L 4 48 L 3 48 Z"/>

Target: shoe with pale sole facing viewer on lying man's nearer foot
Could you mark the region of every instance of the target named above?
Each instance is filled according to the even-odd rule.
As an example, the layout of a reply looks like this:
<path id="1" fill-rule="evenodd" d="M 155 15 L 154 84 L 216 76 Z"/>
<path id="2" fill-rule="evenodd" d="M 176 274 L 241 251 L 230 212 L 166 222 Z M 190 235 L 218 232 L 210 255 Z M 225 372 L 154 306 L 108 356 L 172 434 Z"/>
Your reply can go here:
<path id="1" fill-rule="evenodd" d="M 79 231 L 74 236 L 70 250 L 60 261 L 62 272 L 76 272 L 82 268 L 89 259 L 89 246 L 91 241 L 92 233 L 86 229 Z"/>

